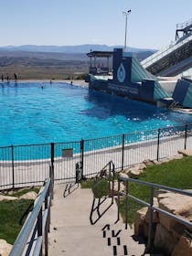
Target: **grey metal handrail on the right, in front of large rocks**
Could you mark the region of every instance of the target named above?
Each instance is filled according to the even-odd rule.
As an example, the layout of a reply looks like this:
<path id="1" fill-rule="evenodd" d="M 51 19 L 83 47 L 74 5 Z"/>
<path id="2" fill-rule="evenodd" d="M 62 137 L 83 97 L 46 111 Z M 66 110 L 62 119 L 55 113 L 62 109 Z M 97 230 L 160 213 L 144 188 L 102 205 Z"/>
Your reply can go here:
<path id="1" fill-rule="evenodd" d="M 120 191 L 120 182 L 123 181 L 126 184 L 126 191 Z M 143 199 L 140 199 L 138 197 L 134 197 L 133 195 L 130 194 L 129 189 L 128 189 L 128 184 L 129 182 L 133 182 L 133 183 L 137 183 L 140 185 L 144 185 L 147 187 L 150 187 L 150 203 L 144 201 Z M 170 213 L 168 211 L 166 211 L 165 209 L 159 208 L 159 207 L 155 207 L 154 205 L 154 189 L 158 188 L 158 189 L 163 189 L 166 191 L 170 191 L 170 192 L 174 192 L 177 194 L 181 194 L 181 195 L 185 195 L 188 197 L 192 197 L 192 192 L 189 191 L 185 191 L 182 189 L 178 189 L 175 187 L 166 187 L 164 185 L 158 185 L 155 183 L 150 183 L 147 181 L 143 181 L 143 180 L 139 180 L 139 179 L 133 179 L 130 177 L 125 177 L 125 176 L 119 176 L 118 177 L 118 216 L 117 216 L 117 220 L 120 219 L 120 196 L 124 196 L 126 197 L 126 201 L 125 201 L 125 229 L 127 229 L 127 223 L 128 223 L 128 198 L 132 198 L 133 200 L 137 201 L 138 203 L 144 205 L 145 207 L 149 208 L 150 211 L 150 218 L 149 218 L 149 228 L 148 228 L 148 241 L 147 241 L 147 250 L 151 251 L 152 248 L 152 232 L 153 232 L 153 211 L 155 210 L 156 212 L 162 213 L 165 216 L 171 218 L 171 219 L 175 219 L 176 221 L 178 221 L 179 223 L 186 225 L 187 227 L 189 227 L 190 229 L 192 228 L 192 223 L 190 221 L 187 221 L 186 219 L 183 219 L 182 217 L 178 217 L 176 215 L 174 215 L 173 213 Z"/>

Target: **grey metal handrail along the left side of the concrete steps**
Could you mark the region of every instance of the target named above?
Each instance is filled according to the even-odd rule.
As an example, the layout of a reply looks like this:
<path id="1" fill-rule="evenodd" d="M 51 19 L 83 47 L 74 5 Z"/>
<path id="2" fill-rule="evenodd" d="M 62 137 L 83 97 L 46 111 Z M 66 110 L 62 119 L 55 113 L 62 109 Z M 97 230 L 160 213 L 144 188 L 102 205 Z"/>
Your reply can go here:
<path id="1" fill-rule="evenodd" d="M 50 204 L 51 204 L 50 185 L 51 185 L 51 180 L 50 178 L 48 178 L 45 181 L 45 185 L 41 189 L 41 192 L 37 197 L 37 201 L 35 202 L 33 211 L 31 212 L 23 228 L 18 234 L 18 237 L 14 243 L 14 246 L 9 256 L 22 255 L 22 253 L 26 249 L 27 241 L 31 233 L 34 231 L 37 232 L 37 241 L 35 245 L 36 255 L 40 255 L 42 252 L 43 236 L 45 236 L 45 255 L 48 255 L 48 229 L 49 229 L 49 223 L 50 223 Z M 42 214 L 44 202 L 45 202 L 45 211 L 44 211 L 44 214 Z M 36 226 L 37 226 L 37 229 L 36 229 Z"/>

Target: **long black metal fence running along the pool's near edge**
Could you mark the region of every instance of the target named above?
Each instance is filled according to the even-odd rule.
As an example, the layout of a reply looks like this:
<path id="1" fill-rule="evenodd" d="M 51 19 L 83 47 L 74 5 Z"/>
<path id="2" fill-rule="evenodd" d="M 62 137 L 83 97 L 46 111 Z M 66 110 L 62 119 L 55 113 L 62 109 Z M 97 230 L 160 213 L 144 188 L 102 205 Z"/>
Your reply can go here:
<path id="1" fill-rule="evenodd" d="M 192 124 L 79 142 L 0 147 L 0 189 L 42 185 L 49 165 L 55 182 L 67 182 L 75 180 L 77 163 L 82 176 L 93 176 L 111 160 L 121 170 L 181 149 L 192 149 Z"/>

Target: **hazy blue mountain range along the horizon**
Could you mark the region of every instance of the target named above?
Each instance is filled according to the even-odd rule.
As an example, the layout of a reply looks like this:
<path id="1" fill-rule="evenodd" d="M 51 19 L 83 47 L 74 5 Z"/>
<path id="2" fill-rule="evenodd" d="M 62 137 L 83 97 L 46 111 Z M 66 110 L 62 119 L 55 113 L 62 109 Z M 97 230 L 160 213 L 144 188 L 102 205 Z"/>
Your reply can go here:
<path id="1" fill-rule="evenodd" d="M 90 50 L 105 50 L 112 51 L 113 48 L 123 48 L 123 46 L 107 46 L 107 45 L 79 45 L 79 46 L 37 46 L 37 45 L 24 45 L 24 46 L 7 46 L 0 47 L 0 51 L 29 51 L 29 52 L 52 52 L 52 53 L 87 53 Z M 154 53 L 155 49 L 146 48 L 128 48 L 131 52 L 151 52 Z"/>

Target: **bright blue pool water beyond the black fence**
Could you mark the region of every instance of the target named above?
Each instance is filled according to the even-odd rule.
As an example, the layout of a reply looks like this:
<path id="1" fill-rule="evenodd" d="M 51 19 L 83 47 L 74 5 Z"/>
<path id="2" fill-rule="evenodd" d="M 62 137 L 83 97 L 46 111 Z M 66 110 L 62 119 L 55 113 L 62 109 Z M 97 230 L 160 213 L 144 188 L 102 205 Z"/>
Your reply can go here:
<path id="1" fill-rule="evenodd" d="M 0 84 L 0 121 L 5 146 L 151 130 L 192 123 L 192 116 L 65 83 L 10 82 Z"/>

